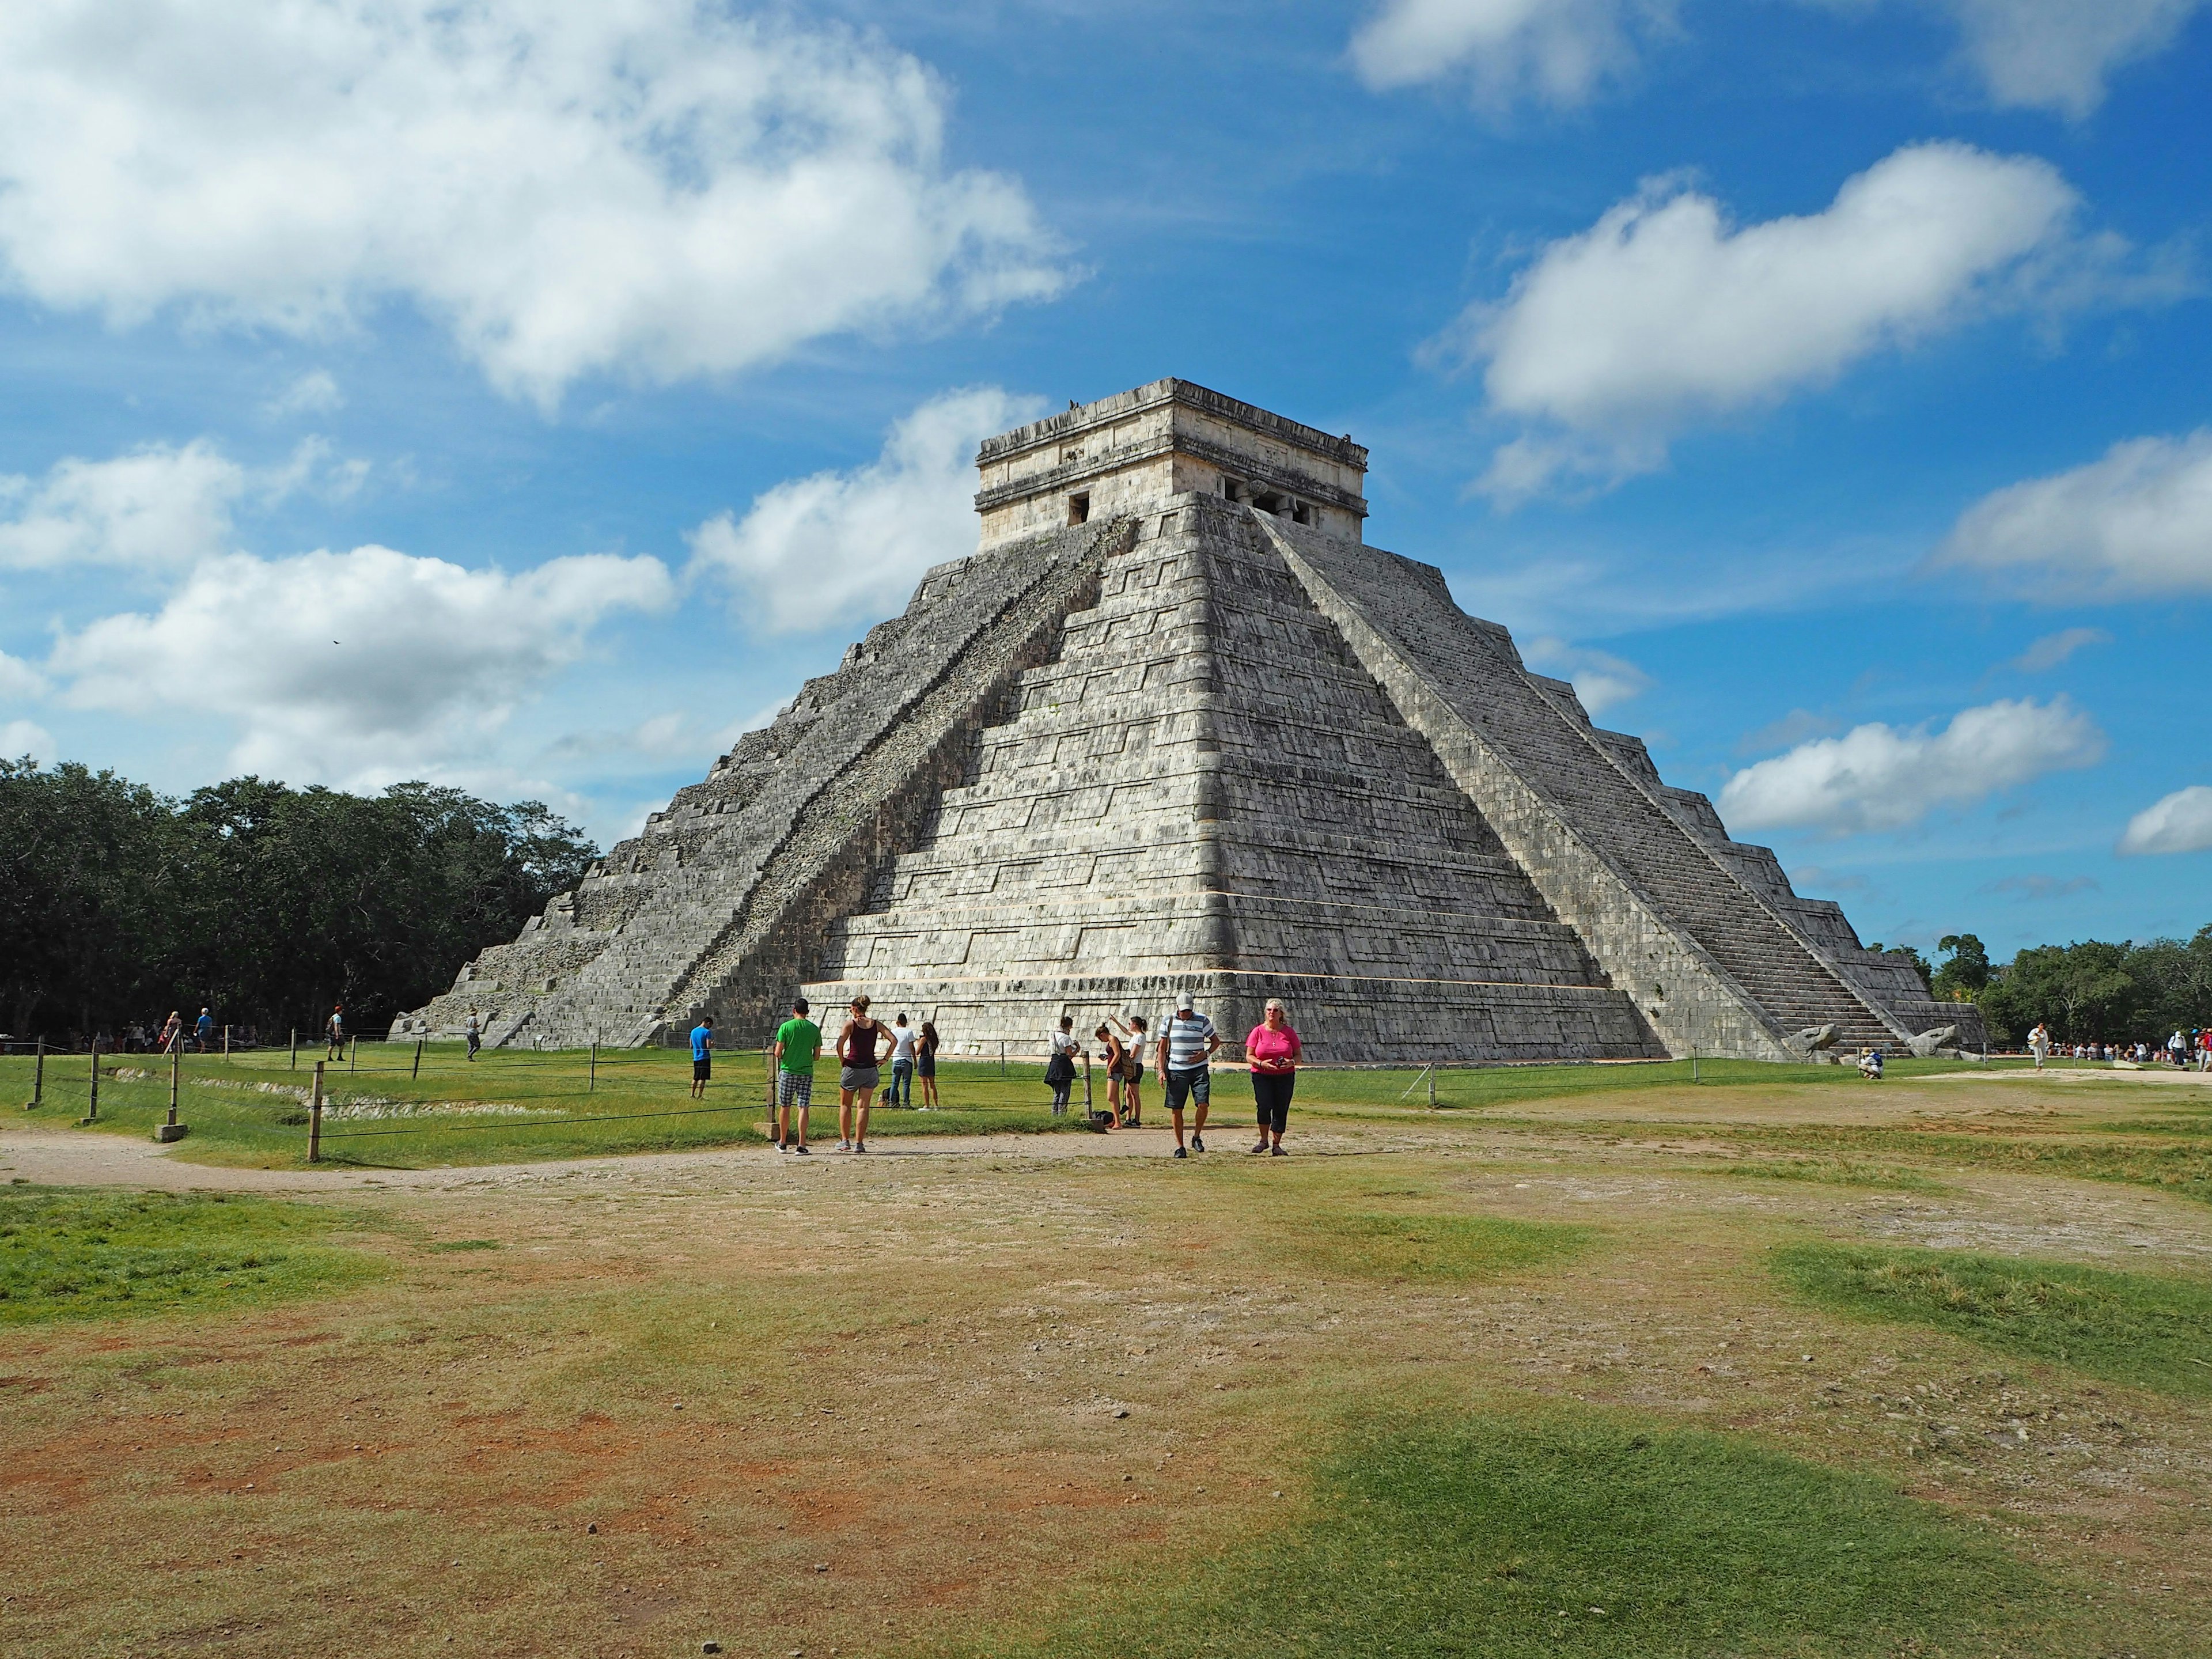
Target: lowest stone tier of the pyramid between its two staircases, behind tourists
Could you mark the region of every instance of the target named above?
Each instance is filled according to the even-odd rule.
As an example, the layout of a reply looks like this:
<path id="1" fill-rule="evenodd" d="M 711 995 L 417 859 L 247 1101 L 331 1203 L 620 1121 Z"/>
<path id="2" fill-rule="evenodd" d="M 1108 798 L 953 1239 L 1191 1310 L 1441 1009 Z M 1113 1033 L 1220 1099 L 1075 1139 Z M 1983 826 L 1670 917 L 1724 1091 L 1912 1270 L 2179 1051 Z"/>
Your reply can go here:
<path id="1" fill-rule="evenodd" d="M 1241 1057 L 1267 998 L 1281 998 L 1314 1064 L 1469 1064 L 1531 1060 L 1666 1060 L 1619 991 L 1579 984 L 1484 984 L 1467 980 L 1363 980 L 1290 973 L 1190 973 L 1183 978 L 1035 980 L 825 980 L 803 987 L 825 1040 L 836 1040 L 845 1004 L 865 993 L 889 1024 L 898 1013 L 931 1020 L 947 1060 L 1035 1057 L 1051 1051 L 1060 1015 L 1075 1015 L 1088 1042 L 1108 1015 L 1141 1013 L 1159 1033 L 1179 991 L 1221 1033 L 1223 1057 Z M 737 1033 L 752 1042 L 754 1033 Z"/>

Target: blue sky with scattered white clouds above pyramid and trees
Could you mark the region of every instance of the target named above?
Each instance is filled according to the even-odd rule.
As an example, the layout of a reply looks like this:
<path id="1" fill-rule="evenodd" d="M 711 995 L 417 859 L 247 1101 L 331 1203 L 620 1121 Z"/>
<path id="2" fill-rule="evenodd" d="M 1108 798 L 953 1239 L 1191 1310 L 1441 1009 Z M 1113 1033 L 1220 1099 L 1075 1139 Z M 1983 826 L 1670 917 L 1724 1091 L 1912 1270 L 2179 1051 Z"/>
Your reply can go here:
<path id="1" fill-rule="evenodd" d="M 1183 376 L 1867 940 L 2212 922 L 2212 0 L 11 0 L 0 752 L 602 843 Z"/>

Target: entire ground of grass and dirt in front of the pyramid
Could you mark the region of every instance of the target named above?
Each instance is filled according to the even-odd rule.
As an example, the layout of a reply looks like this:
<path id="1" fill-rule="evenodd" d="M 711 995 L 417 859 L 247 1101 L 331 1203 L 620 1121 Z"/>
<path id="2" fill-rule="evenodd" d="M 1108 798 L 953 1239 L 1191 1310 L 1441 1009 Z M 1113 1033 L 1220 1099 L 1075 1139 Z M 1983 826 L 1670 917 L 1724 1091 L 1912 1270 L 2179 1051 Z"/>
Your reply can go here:
<path id="1" fill-rule="evenodd" d="M 799 1161 L 757 1057 L 369 1055 L 327 1170 L 283 1055 L 0 1121 L 11 1659 L 2212 1655 L 2205 1086 L 1312 1073 L 1250 1159 L 1225 1077 L 1172 1161 L 960 1064 Z"/>

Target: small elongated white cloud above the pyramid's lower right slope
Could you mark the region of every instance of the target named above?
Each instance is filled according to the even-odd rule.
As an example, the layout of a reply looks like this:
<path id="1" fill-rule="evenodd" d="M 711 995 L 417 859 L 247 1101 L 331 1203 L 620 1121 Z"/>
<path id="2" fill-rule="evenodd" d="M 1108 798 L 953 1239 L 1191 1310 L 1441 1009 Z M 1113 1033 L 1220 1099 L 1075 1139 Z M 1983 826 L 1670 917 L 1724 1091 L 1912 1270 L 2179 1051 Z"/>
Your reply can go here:
<path id="1" fill-rule="evenodd" d="M 1736 772 L 1721 790 L 1734 830 L 1905 830 L 2046 772 L 2095 765 L 2104 732 L 2064 697 L 1966 708 L 1929 726 L 1856 726 Z"/>

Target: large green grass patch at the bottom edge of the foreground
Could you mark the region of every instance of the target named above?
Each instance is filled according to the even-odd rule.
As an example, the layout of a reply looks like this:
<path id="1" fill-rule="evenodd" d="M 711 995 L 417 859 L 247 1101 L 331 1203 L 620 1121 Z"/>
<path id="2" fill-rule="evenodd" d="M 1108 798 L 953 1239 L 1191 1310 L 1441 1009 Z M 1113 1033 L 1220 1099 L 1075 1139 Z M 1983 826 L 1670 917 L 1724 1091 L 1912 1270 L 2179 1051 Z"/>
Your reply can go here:
<path id="1" fill-rule="evenodd" d="M 1310 1520 L 1029 1646 L 1055 1659 L 1703 1659 L 2017 1652 L 2057 1597 L 1971 1526 L 1743 1438 L 1568 1409 L 1411 1420 Z M 2064 1648 L 2059 1648 L 2064 1650 Z"/>

